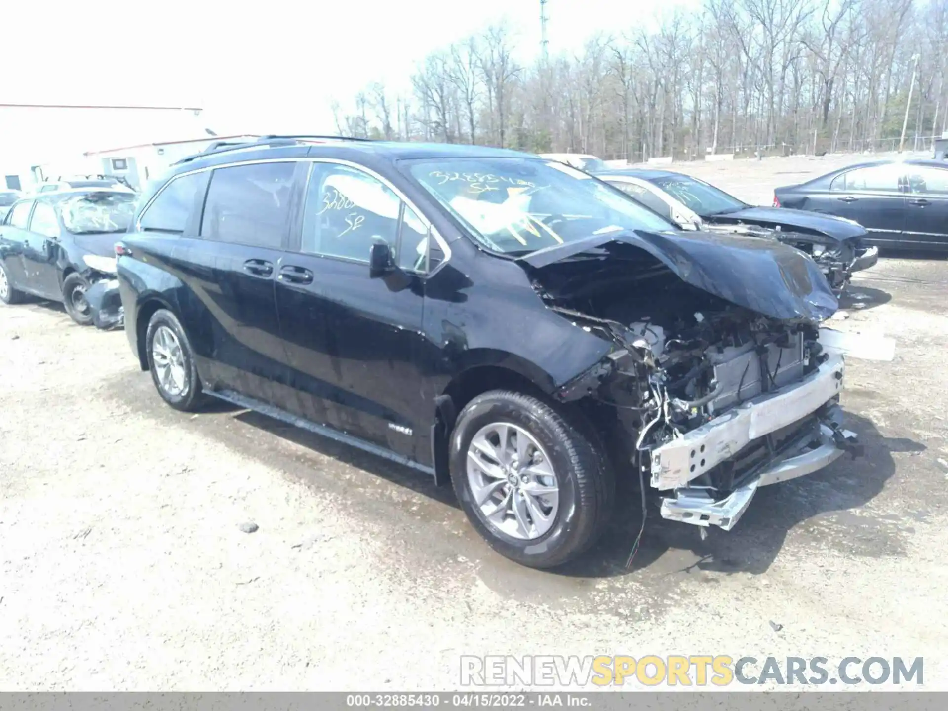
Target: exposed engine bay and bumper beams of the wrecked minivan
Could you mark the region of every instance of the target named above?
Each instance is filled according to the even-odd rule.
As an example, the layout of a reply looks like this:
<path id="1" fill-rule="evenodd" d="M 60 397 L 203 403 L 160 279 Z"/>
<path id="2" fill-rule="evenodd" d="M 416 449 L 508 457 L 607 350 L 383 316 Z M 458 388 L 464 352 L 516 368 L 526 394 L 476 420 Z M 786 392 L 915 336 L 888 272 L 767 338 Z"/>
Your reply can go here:
<path id="1" fill-rule="evenodd" d="M 551 264 L 534 286 L 614 344 L 558 395 L 611 414 L 613 459 L 671 495 L 665 518 L 730 530 L 757 486 L 855 452 L 837 405 L 843 358 L 818 322 L 764 316 L 648 259 Z"/>

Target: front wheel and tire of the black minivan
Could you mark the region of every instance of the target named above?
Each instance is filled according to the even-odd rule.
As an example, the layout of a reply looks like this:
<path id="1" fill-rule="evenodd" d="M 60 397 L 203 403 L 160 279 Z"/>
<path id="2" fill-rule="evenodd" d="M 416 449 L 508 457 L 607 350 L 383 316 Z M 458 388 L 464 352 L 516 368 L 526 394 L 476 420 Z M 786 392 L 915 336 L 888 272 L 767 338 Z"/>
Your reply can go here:
<path id="1" fill-rule="evenodd" d="M 562 413 L 520 392 L 475 397 L 449 446 L 451 483 L 494 550 L 552 568 L 589 549 L 609 520 L 615 483 L 604 457 Z"/>

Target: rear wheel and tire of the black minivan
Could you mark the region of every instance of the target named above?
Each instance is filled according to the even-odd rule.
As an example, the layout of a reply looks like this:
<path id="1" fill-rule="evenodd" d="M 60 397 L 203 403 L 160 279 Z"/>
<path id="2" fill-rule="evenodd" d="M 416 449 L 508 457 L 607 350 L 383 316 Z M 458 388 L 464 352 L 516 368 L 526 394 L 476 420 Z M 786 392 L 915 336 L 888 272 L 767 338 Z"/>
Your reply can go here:
<path id="1" fill-rule="evenodd" d="M 155 390 L 175 410 L 199 410 L 207 395 L 194 366 L 191 341 L 168 309 L 158 309 L 145 332 L 145 353 Z"/>

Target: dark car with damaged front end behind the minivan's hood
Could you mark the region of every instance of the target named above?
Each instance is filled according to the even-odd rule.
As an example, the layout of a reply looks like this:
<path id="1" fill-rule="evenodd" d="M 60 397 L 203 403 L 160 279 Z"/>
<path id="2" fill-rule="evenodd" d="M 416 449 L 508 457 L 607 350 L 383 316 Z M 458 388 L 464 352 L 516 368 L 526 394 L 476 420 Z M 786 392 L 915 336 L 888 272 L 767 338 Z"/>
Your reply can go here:
<path id="1" fill-rule="evenodd" d="M 748 205 L 683 173 L 604 170 L 600 180 L 660 210 L 683 229 L 775 239 L 809 254 L 838 294 L 853 272 L 879 261 L 879 249 L 864 244 L 867 232 L 853 220 L 805 210 Z"/>

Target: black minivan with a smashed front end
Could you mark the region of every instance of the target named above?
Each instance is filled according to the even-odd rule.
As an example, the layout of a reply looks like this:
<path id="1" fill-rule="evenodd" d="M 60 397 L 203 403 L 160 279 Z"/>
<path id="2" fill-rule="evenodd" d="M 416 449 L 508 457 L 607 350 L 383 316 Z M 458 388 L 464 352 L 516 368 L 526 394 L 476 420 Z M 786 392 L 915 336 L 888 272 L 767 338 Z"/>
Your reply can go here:
<path id="1" fill-rule="evenodd" d="M 223 398 L 450 481 L 525 565 L 592 545 L 616 477 L 730 530 L 854 437 L 808 256 L 535 155 L 264 137 L 175 164 L 116 252 L 173 408 Z"/>

